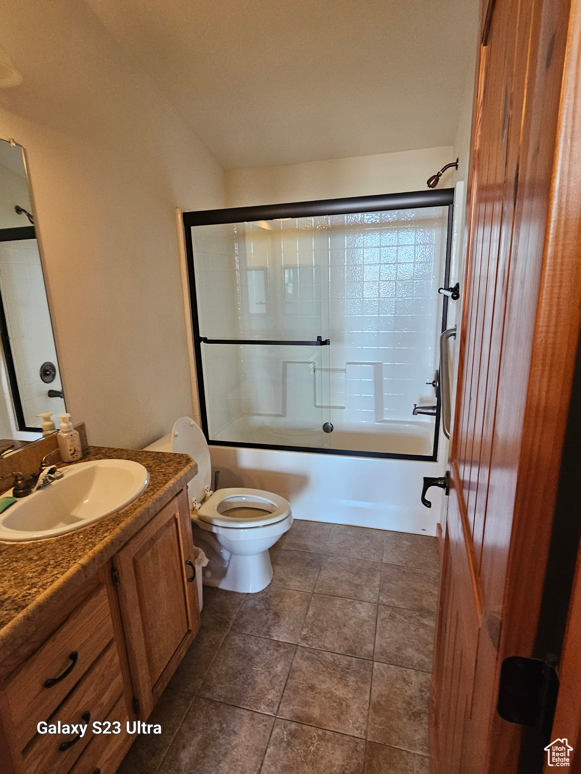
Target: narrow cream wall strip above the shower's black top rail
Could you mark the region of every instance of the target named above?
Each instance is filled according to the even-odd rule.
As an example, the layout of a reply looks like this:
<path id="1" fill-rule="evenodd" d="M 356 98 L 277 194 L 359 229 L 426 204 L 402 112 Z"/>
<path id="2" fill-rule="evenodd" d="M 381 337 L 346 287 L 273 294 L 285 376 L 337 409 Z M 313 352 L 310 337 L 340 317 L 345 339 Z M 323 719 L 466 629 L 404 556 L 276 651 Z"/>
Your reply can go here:
<path id="1" fill-rule="evenodd" d="M 287 166 L 225 170 L 226 206 L 250 207 L 428 190 L 428 177 L 455 159 L 452 146 L 445 146 Z M 454 172 L 452 169 L 442 176 L 441 187 L 453 185 Z"/>

